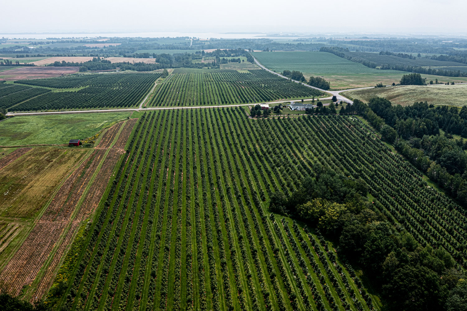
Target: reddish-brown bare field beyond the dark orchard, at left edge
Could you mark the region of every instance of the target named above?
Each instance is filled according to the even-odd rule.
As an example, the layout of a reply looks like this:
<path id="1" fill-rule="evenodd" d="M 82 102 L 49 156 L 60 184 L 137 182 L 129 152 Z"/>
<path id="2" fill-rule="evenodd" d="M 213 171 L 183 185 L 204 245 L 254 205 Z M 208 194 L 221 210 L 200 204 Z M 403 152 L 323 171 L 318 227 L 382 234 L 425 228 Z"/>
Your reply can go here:
<path id="1" fill-rule="evenodd" d="M 76 73 L 79 67 L 19 67 L 0 72 L 0 80 L 22 80 L 58 77 Z"/>

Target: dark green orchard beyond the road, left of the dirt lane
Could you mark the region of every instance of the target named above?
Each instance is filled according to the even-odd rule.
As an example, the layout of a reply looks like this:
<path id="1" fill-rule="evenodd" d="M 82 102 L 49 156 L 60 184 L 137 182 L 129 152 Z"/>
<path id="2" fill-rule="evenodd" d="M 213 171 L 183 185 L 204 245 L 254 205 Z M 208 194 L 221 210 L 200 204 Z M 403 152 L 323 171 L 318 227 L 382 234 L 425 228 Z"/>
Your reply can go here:
<path id="1" fill-rule="evenodd" d="M 108 73 L 18 80 L 14 86 L 42 88 L 28 91 L 34 92 L 28 98 L 17 99 L 14 97 L 17 93 L 6 95 L 3 106 L 8 111 L 133 107 L 141 103 L 160 76 L 158 73 Z M 50 88 L 62 92 L 50 92 Z M 43 95 L 37 96 L 38 93 Z"/>

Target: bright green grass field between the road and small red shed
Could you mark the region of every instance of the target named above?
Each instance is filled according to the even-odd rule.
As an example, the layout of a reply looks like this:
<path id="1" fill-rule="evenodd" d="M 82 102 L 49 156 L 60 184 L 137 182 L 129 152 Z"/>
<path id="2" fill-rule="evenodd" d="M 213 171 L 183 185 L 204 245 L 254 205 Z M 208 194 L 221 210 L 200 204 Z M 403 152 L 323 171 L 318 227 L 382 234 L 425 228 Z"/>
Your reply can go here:
<path id="1" fill-rule="evenodd" d="M 0 122 L 0 146 L 64 144 L 90 137 L 131 112 L 16 116 Z"/>

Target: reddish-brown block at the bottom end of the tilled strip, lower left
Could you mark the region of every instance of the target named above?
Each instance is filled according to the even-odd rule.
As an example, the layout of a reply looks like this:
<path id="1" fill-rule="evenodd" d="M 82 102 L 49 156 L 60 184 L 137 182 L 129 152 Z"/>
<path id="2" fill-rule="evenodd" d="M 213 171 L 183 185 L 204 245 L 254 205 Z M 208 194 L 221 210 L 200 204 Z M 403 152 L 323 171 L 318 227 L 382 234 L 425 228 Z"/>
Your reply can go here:
<path id="1" fill-rule="evenodd" d="M 49 221 L 36 224 L 0 275 L 11 294 L 18 295 L 23 285 L 34 281 L 65 226 Z"/>

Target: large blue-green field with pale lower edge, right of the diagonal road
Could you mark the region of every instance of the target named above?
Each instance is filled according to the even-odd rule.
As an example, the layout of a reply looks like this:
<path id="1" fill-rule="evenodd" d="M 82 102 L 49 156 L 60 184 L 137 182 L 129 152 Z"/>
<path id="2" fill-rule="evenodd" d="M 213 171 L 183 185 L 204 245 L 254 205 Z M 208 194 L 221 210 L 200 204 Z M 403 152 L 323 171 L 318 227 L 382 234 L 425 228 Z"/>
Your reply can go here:
<path id="1" fill-rule="evenodd" d="M 398 83 L 404 71 L 378 70 L 327 52 L 255 52 L 253 55 L 267 68 L 276 72 L 298 70 L 306 79 L 323 76 L 331 82 L 331 90 Z M 467 78 L 422 75 L 428 80 L 467 82 Z"/>

